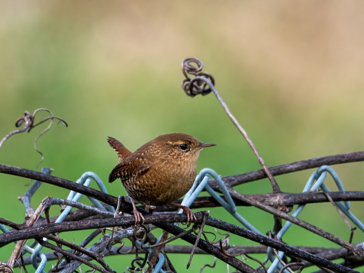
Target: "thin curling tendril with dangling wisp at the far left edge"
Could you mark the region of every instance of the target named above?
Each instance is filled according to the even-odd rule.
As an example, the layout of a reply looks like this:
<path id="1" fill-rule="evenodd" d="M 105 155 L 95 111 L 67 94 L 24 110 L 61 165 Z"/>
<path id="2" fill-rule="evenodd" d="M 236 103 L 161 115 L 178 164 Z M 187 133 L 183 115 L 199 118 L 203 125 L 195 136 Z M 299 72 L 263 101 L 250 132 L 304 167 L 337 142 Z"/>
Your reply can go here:
<path id="1" fill-rule="evenodd" d="M 50 115 L 50 116 L 47 116 L 46 118 L 44 118 L 43 120 L 41 120 L 40 122 L 38 122 L 38 123 L 34 123 L 34 120 L 35 120 L 35 116 L 36 116 L 36 114 L 38 113 L 38 112 L 40 112 L 40 111 L 46 111 L 46 112 L 48 112 L 48 114 Z M 19 127 L 21 127 L 23 124 L 24 124 L 24 127 L 23 128 L 20 128 L 20 129 L 17 129 L 17 130 L 14 130 L 14 131 L 12 131 L 12 132 L 9 132 L 9 134 L 7 134 L 7 135 L 5 135 L 5 137 L 3 138 L 3 139 L 1 139 L 1 141 L 0 141 L 0 148 L 1 148 L 1 145 L 3 145 L 3 143 L 9 138 L 9 137 L 11 137 L 12 135 L 15 135 L 15 134 L 19 134 L 19 133 L 22 133 L 22 132 L 30 132 L 30 130 L 32 130 L 32 128 L 34 128 L 34 127 L 37 127 L 38 125 L 40 125 L 40 124 L 42 124 L 42 123 L 44 123 L 44 122 L 46 122 L 47 120 L 51 120 L 51 122 L 50 122 L 50 124 L 48 125 L 48 127 L 46 128 L 46 129 L 44 129 L 38 136 L 37 136 L 37 138 L 35 139 L 35 141 L 34 141 L 34 149 L 37 151 L 37 153 L 39 153 L 40 155 L 41 155 L 41 157 L 42 157 L 42 159 L 41 159 L 41 161 L 40 161 L 40 163 L 41 162 L 43 162 L 43 159 L 44 159 L 44 157 L 43 157 L 43 154 L 37 149 L 37 141 L 38 141 L 38 139 L 45 133 L 45 132 L 47 132 L 50 128 L 51 128 L 51 126 L 52 126 L 52 124 L 53 124 L 53 120 L 54 119 L 57 119 L 57 120 L 59 120 L 59 122 L 60 123 L 62 123 L 64 126 L 68 126 L 68 124 L 63 120 L 63 119 L 61 119 L 61 118 L 59 118 L 59 117 L 57 117 L 57 116 L 54 116 L 53 115 L 53 113 L 50 111 L 50 110 L 48 110 L 47 108 L 38 108 L 38 109 L 36 109 L 34 112 L 33 112 L 33 114 L 31 115 L 28 111 L 25 111 L 24 112 L 24 116 L 21 116 L 20 118 L 18 118 L 17 120 L 16 120 L 16 122 L 15 122 L 15 127 L 17 127 L 17 128 L 19 128 Z M 40 164 L 39 163 L 39 164 Z M 38 164 L 38 165 L 39 165 Z"/>

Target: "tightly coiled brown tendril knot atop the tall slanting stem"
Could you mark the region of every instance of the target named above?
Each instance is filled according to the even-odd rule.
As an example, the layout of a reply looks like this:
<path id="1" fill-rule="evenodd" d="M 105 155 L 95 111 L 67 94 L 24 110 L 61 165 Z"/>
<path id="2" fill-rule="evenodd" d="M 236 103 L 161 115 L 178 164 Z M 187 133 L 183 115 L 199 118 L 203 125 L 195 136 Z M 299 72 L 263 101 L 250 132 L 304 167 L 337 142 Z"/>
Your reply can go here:
<path id="1" fill-rule="evenodd" d="M 194 77 L 204 77 L 215 85 L 215 79 L 209 72 L 202 72 L 203 63 L 196 58 L 186 58 L 182 61 L 182 72 L 186 79 L 182 81 L 182 89 L 187 96 L 194 97 L 198 94 L 203 96 L 209 94 L 212 90 L 203 80 L 203 78 L 191 79 L 188 75 Z"/>

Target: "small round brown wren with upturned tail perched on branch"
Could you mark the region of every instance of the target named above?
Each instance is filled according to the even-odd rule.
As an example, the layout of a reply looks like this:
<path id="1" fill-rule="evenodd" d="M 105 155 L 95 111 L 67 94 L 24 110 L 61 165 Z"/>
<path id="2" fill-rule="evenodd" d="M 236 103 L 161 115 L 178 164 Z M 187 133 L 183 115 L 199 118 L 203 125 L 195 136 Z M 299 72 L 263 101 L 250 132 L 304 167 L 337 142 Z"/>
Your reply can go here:
<path id="1" fill-rule="evenodd" d="M 144 217 L 134 200 L 143 205 L 174 205 L 183 209 L 188 222 L 195 219 L 189 207 L 172 202 L 191 189 L 202 148 L 215 144 L 200 142 L 187 134 L 165 134 L 131 153 L 115 138 L 108 137 L 107 142 L 120 159 L 109 175 L 109 183 L 120 178 L 131 198 L 136 225 L 143 223 Z"/>

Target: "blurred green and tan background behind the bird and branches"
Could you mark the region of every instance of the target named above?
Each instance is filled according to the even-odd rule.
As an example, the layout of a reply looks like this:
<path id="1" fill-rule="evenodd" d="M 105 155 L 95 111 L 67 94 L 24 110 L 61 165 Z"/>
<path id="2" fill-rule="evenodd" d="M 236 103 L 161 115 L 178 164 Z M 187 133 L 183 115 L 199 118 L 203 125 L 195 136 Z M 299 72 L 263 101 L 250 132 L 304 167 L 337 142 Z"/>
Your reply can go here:
<path id="1" fill-rule="evenodd" d="M 0 138 L 15 130 L 25 110 L 45 107 L 69 124 L 55 123 L 39 139 L 44 162 L 37 170 L 50 167 L 53 175 L 71 181 L 93 171 L 106 182 L 118 161 L 107 136 L 134 151 L 170 132 L 218 144 L 201 153 L 198 171 L 210 167 L 226 176 L 260 169 L 215 96 L 191 99 L 181 89 L 180 66 L 187 57 L 204 62 L 268 166 L 363 150 L 361 1 L 1 1 L 1 7 Z M 45 116 L 39 114 L 38 121 Z M 0 163 L 35 170 L 41 158 L 33 142 L 45 127 L 9 138 L 0 149 Z M 363 190 L 363 163 L 334 168 L 346 190 Z M 276 179 L 282 191 L 297 193 L 313 171 Z M 17 197 L 31 181 L 4 174 L 0 179 L 0 217 L 23 222 L 25 210 Z M 327 185 L 335 190 L 331 179 Z M 125 194 L 121 183 L 106 187 L 113 195 Z M 271 191 L 267 180 L 237 189 Z M 67 194 L 42 185 L 32 205 Z M 364 219 L 360 203 L 352 203 L 352 210 Z M 240 213 L 263 233 L 273 228 L 268 214 L 249 207 Z M 236 223 L 222 209 L 210 215 Z M 300 218 L 349 240 L 348 227 L 331 205 L 308 205 Z M 334 246 L 298 227 L 284 240 Z M 353 241 L 363 240 L 357 230 Z M 252 243 L 232 237 L 230 244 Z M 2 261 L 13 247 L 0 248 Z M 171 255 L 181 272 L 188 257 Z M 118 272 L 130 260 L 106 258 Z M 189 272 L 205 263 L 213 258 L 195 257 Z M 226 265 L 218 261 L 217 268 L 204 272 L 222 270 Z"/>

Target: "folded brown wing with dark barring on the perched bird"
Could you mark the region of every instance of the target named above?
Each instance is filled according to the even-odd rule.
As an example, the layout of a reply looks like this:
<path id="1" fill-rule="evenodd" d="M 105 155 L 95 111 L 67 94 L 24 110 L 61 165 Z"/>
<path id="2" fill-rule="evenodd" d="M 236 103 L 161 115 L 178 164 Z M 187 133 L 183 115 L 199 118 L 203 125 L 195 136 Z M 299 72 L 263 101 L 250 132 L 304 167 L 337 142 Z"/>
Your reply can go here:
<path id="1" fill-rule="evenodd" d="M 132 164 L 129 158 L 126 158 L 112 169 L 109 175 L 109 183 L 114 182 L 118 178 L 121 181 L 127 180 L 135 175 L 147 172 L 149 168 L 150 166 L 147 163 Z"/>

